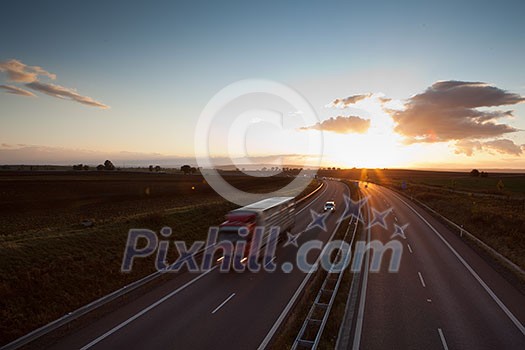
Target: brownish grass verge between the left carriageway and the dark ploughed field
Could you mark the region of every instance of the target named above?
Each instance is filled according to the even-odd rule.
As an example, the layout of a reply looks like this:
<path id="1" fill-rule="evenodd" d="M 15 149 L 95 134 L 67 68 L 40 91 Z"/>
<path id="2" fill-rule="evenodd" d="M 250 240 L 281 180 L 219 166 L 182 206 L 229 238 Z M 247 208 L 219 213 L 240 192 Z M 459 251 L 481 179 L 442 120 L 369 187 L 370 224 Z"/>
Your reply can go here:
<path id="1" fill-rule="evenodd" d="M 170 226 L 170 239 L 191 242 L 205 239 L 208 227 L 218 225 L 234 207 L 224 202 L 167 215 L 147 214 L 70 235 L 0 244 L 1 343 L 154 272 L 154 255 L 136 260 L 130 273 L 120 271 L 130 228 L 158 232 Z M 175 249 L 169 253 L 173 262 Z"/>

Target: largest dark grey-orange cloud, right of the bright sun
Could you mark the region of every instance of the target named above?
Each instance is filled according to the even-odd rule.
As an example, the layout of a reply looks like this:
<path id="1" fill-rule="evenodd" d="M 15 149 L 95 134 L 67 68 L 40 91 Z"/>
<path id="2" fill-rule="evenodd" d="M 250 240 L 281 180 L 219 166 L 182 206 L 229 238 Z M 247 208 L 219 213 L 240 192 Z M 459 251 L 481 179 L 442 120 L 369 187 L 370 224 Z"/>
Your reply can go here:
<path id="1" fill-rule="evenodd" d="M 525 98 L 481 82 L 440 81 L 405 103 L 404 110 L 390 110 L 395 131 L 406 143 L 484 139 L 518 131 L 497 119 L 512 111 L 486 111 L 479 107 L 512 105 Z"/>

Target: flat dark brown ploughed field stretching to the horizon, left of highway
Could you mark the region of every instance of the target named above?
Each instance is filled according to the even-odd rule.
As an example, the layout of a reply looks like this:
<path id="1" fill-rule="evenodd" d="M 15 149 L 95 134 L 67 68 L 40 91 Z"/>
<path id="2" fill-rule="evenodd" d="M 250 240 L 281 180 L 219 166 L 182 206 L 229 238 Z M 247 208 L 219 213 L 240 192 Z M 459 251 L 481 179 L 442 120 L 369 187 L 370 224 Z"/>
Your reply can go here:
<path id="1" fill-rule="evenodd" d="M 240 189 L 266 192 L 290 178 L 231 176 Z M 199 175 L 0 172 L 0 235 L 78 228 L 160 209 L 222 201 Z"/>

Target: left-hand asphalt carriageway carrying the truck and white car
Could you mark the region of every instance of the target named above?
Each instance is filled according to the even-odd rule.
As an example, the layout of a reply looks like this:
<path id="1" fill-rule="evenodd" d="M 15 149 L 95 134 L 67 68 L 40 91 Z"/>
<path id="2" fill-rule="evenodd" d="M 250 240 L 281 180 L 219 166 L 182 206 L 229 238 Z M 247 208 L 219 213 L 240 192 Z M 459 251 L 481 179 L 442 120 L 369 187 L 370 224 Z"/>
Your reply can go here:
<path id="1" fill-rule="evenodd" d="M 296 209 L 294 234 L 298 243 L 319 239 L 326 242 L 337 227 L 337 216 L 326 220 L 327 230 L 306 228 L 312 222 L 310 209 L 322 211 L 327 200 L 343 203 L 346 185 L 327 181 L 307 203 Z M 219 223 L 217 223 L 219 224 Z M 280 244 L 273 273 L 180 273 L 91 324 L 75 330 L 52 349 L 254 349 L 265 345 L 283 310 L 290 303 L 306 273 L 297 268 L 282 271 L 284 262 L 294 262 L 297 249 Z M 320 252 L 312 251 L 313 262 Z M 294 264 L 295 265 L 295 264 Z"/>

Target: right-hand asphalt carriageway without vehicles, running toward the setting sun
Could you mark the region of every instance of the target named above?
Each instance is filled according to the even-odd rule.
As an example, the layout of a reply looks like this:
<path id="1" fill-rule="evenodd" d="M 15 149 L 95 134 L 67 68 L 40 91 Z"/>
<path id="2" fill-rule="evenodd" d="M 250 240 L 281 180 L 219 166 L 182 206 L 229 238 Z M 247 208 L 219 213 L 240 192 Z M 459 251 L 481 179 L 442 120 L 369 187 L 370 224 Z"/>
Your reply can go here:
<path id="1" fill-rule="evenodd" d="M 370 184 L 369 210 L 391 210 L 368 239 L 403 244 L 398 273 L 363 271 L 349 349 L 525 349 L 525 297 L 410 200 Z M 373 213 L 372 213 L 373 218 Z M 394 225 L 405 238 L 392 237 Z M 495 233 L 497 234 L 497 233 Z M 365 267 L 366 269 L 366 267 Z"/>

